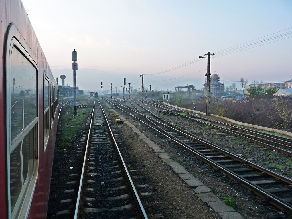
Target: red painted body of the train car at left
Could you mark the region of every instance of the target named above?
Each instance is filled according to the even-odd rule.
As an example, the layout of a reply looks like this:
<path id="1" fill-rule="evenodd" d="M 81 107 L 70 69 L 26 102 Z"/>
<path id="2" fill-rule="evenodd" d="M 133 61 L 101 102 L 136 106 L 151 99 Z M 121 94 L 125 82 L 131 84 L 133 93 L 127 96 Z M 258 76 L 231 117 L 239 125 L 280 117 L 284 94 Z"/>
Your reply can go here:
<path id="1" fill-rule="evenodd" d="M 27 193 L 22 203 L 24 209 L 19 211 L 18 218 L 46 218 L 48 198 L 50 192 L 51 173 L 53 166 L 53 156 L 55 147 L 55 137 L 58 125 L 58 86 L 53 78 L 51 69 L 48 65 L 44 52 L 41 49 L 36 34 L 29 21 L 28 15 L 20 0 L 0 0 L 0 50 L 2 52 L 2 58 L 0 59 L 0 215 L 1 218 L 13 218 L 9 210 L 10 206 L 10 182 L 8 182 L 8 168 L 11 169 L 10 163 L 8 163 L 8 139 L 7 133 L 10 132 L 7 128 L 6 118 L 9 117 L 10 110 L 7 110 L 7 101 L 10 96 L 7 94 L 7 66 L 8 58 L 6 50 L 8 49 L 9 31 L 14 28 L 16 40 L 23 46 L 23 48 L 29 48 L 30 55 L 36 60 L 37 65 L 37 103 L 38 107 L 38 120 L 36 124 L 37 136 L 37 152 L 34 164 L 36 173 L 36 182 L 34 188 Z M 22 62 L 23 63 L 23 62 Z M 22 74 L 22 72 L 19 72 Z M 44 79 L 49 81 L 49 134 L 47 142 L 44 142 Z M 14 79 L 13 79 L 14 80 Z M 51 90 L 53 88 L 53 91 Z M 13 86 L 14 89 L 14 86 Z M 14 90 L 13 90 L 14 93 Z M 10 100 L 9 100 L 10 101 Z M 23 100 L 24 101 L 24 100 Z M 53 104 L 53 105 L 51 105 Z M 23 102 L 24 105 L 24 102 Z M 52 111 L 52 112 L 51 112 Z M 54 112 L 53 112 L 54 111 Z M 24 109 L 23 109 L 24 114 Z M 25 116 L 23 116 L 24 118 Z M 24 141 L 24 140 L 22 140 Z M 46 146 L 47 145 L 47 146 Z M 46 146 L 46 149 L 44 147 Z M 21 149 L 23 150 L 23 149 Z M 22 153 L 22 151 L 21 151 Z M 9 153 L 8 153 L 9 154 Z M 11 190 L 14 189 L 11 187 Z M 9 191 L 8 191 L 9 190 Z M 28 194 L 30 193 L 30 194 Z M 29 198 L 29 196 L 31 198 Z M 27 201 L 29 200 L 29 201 Z M 27 201 L 27 202 L 26 202 Z M 27 208 L 27 209 L 25 209 Z M 26 211 L 27 210 L 27 211 Z"/>

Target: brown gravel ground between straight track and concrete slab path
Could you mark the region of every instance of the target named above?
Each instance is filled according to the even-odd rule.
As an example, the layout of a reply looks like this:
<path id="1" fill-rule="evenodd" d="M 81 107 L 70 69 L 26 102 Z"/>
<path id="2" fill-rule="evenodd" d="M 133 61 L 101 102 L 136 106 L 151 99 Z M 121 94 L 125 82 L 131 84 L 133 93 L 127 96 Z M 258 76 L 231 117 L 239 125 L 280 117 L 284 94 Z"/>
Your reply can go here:
<path id="1" fill-rule="evenodd" d="M 112 114 L 109 113 L 109 116 Z M 135 121 L 128 121 L 136 128 L 141 128 Z M 150 195 L 140 196 L 140 199 L 149 218 L 220 218 L 198 200 L 194 190 L 161 161 L 153 149 L 141 141 L 131 128 L 126 124 L 114 125 L 114 128 L 119 130 L 119 136 L 124 139 L 120 150 L 126 164 L 137 170 L 134 173 L 134 184 L 147 184 L 144 192 Z M 143 133 L 146 135 L 145 131 Z M 148 137 L 152 138 L 152 135 Z M 163 142 L 159 140 L 156 143 Z"/>

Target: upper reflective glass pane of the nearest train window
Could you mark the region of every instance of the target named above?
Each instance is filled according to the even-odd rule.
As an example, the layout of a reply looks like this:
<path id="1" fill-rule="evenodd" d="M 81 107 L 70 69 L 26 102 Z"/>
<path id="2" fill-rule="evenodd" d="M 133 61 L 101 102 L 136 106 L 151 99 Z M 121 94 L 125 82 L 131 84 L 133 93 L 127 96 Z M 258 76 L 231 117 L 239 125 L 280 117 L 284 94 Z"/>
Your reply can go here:
<path id="1" fill-rule="evenodd" d="M 36 117 L 36 69 L 15 48 L 11 53 L 11 141 Z"/>

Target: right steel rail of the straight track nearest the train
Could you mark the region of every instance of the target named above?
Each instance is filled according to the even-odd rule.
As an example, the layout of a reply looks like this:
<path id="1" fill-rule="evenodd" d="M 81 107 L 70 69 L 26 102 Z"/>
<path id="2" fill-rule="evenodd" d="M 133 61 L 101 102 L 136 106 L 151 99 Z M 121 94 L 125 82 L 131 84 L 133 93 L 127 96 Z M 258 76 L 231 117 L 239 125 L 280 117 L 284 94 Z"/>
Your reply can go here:
<path id="1" fill-rule="evenodd" d="M 139 209 L 139 211 L 140 211 L 140 213 L 141 213 L 141 215 L 142 215 L 142 218 L 147 219 L 148 217 L 147 217 L 147 215 L 146 215 L 145 209 L 144 209 L 144 207 L 143 207 L 143 205 L 142 205 L 142 202 L 141 202 L 141 200 L 140 200 L 140 198 L 139 198 L 138 192 L 137 192 L 137 190 L 136 190 L 136 188 L 135 188 L 135 185 L 134 185 L 134 183 L 133 183 L 133 180 L 132 180 L 132 178 L 131 178 L 131 176 L 130 176 L 130 173 L 129 173 L 129 171 L 128 171 L 128 168 L 127 168 L 127 166 L 126 166 L 126 164 L 125 164 L 125 161 L 124 161 L 123 156 L 122 156 L 122 154 L 121 154 L 121 152 L 120 152 L 119 146 L 118 146 L 118 144 L 117 144 L 117 142 L 116 142 L 116 139 L 114 138 L 114 134 L 113 134 L 113 132 L 112 132 L 112 129 L 110 128 L 109 122 L 108 122 L 108 120 L 107 120 L 107 117 L 106 117 L 106 115 L 105 115 L 105 112 L 104 112 L 103 109 L 102 109 L 102 106 L 101 106 L 99 100 L 98 100 L 98 103 L 99 103 L 99 105 L 100 105 L 100 108 L 101 108 L 101 111 L 102 111 L 102 115 L 103 115 L 103 117 L 105 118 L 105 121 L 106 121 L 106 123 L 107 123 L 107 128 L 108 128 L 108 130 L 109 130 L 109 132 L 110 132 L 110 134 L 111 134 L 111 136 L 112 136 L 112 140 L 113 140 L 113 142 L 114 142 L 114 145 L 115 145 L 115 147 L 116 147 L 116 150 L 117 150 L 117 152 L 118 152 L 118 154 L 119 154 L 119 159 L 120 159 L 120 161 L 121 161 L 121 163 L 122 163 L 122 166 L 123 166 L 124 172 L 125 172 L 125 174 L 126 174 L 126 178 L 127 178 L 128 182 L 129 182 L 129 184 L 131 185 L 131 190 L 132 190 L 132 192 L 133 192 L 134 199 L 136 200 L 137 207 L 138 207 L 138 209 Z"/>

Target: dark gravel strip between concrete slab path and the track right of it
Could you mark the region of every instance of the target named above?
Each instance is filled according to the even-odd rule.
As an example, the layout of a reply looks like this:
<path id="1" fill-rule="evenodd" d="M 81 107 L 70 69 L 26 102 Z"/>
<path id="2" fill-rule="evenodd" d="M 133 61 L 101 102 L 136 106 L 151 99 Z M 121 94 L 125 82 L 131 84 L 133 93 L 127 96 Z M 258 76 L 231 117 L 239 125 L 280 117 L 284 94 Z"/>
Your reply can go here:
<path id="1" fill-rule="evenodd" d="M 119 109 L 117 110 L 120 111 Z M 121 114 L 125 115 L 124 113 Z M 208 185 L 212 189 L 212 192 L 214 192 L 221 200 L 224 200 L 226 197 L 231 197 L 234 199 L 235 210 L 240 212 L 245 218 L 266 218 L 265 213 L 277 211 L 277 209 L 269 203 L 266 203 L 249 190 L 246 190 L 225 175 L 214 170 L 210 166 L 207 166 L 196 157 L 186 153 L 182 148 L 178 147 L 173 142 L 161 138 L 160 134 L 154 133 L 154 131 L 149 128 L 145 128 L 132 118 L 129 118 L 128 116 L 126 117 L 128 118 L 128 121 L 139 128 L 140 131 L 143 132 L 148 138 L 152 139 L 152 141 L 164 148 L 167 153 L 171 154 L 172 159 L 185 166 L 189 172 L 197 176 L 202 182 Z M 175 117 L 171 118 L 175 119 Z M 216 137 L 218 138 L 217 135 Z M 225 141 L 226 137 L 221 140 Z M 255 147 L 258 148 L 257 145 Z"/>

